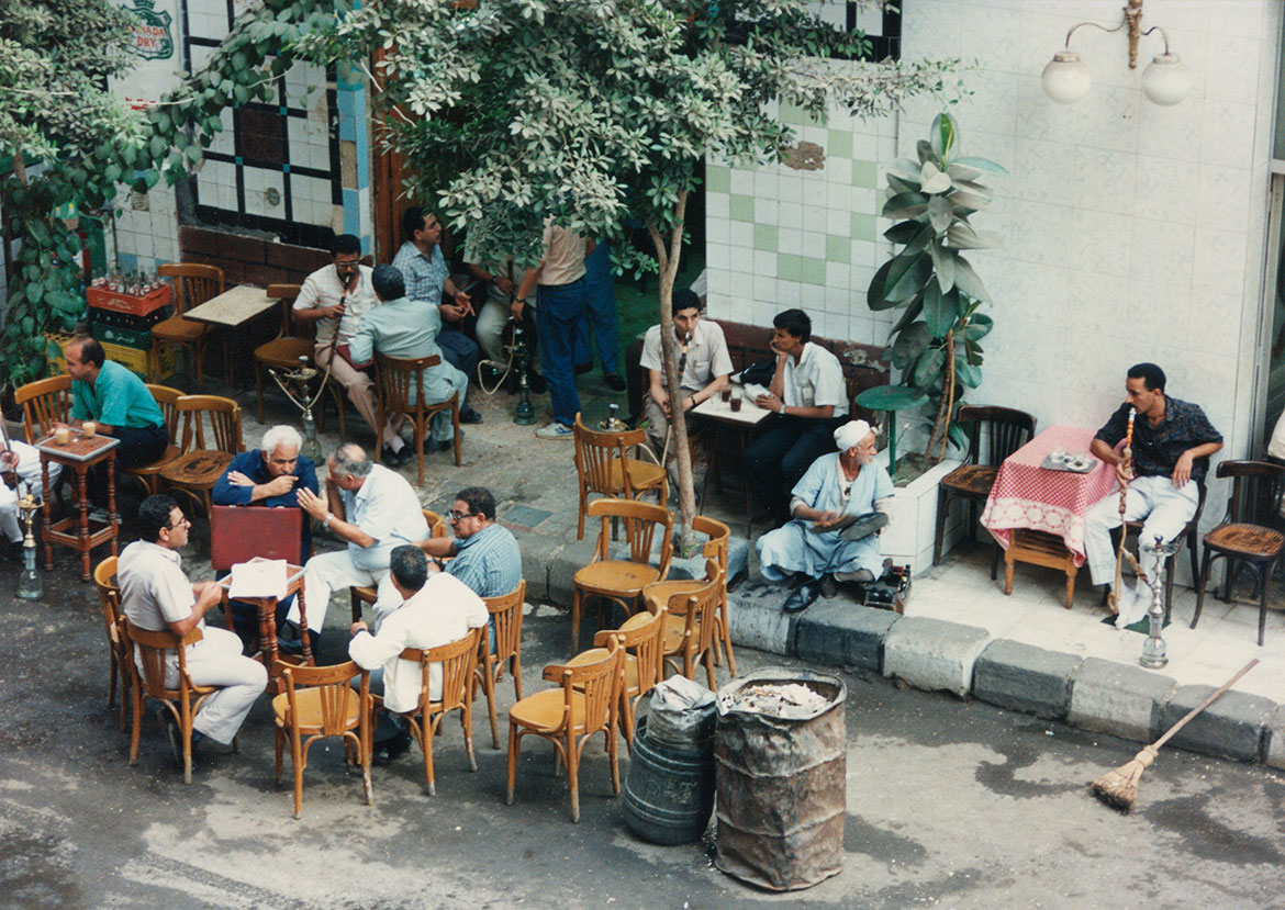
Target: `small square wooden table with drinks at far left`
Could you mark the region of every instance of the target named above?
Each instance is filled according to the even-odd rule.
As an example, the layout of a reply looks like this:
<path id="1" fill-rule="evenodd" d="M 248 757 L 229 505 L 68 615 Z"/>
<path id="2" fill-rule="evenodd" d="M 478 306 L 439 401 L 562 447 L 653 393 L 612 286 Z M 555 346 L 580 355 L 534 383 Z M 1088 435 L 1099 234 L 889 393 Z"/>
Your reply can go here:
<path id="1" fill-rule="evenodd" d="M 71 547 L 81 554 L 81 581 L 90 580 L 89 554 L 103 543 L 112 544 L 116 556 L 116 542 L 120 535 L 120 516 L 116 513 L 116 447 L 121 444 L 114 436 L 95 434 L 86 439 L 81 430 L 72 430 L 71 442 L 59 445 L 53 435 L 36 440 L 40 452 L 40 474 L 44 483 L 45 526 L 45 571 L 54 569 L 54 544 Z M 89 468 L 107 462 L 107 511 L 105 522 L 91 521 L 89 517 L 89 490 L 86 474 Z M 57 522 L 53 520 L 53 486 L 49 484 L 49 463 L 62 465 L 76 474 L 76 513 Z M 96 525 L 96 526 L 95 526 Z"/>

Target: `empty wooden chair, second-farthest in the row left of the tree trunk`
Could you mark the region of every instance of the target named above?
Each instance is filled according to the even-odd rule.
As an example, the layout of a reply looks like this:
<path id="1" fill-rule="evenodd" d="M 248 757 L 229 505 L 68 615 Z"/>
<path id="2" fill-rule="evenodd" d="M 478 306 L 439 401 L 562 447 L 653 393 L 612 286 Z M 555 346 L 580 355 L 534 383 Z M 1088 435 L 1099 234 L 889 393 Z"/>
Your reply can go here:
<path id="1" fill-rule="evenodd" d="M 625 607 L 626 616 L 636 612 L 642 588 L 662 581 L 669 574 L 673 556 L 673 513 L 664 506 L 653 506 L 634 499 L 595 499 L 589 503 L 590 517 L 600 517 L 603 529 L 598 535 L 594 561 L 576 572 L 574 594 L 571 605 L 572 647 L 580 644 L 580 616 L 590 597 L 599 601 L 599 628 L 605 625 L 607 602 Z M 627 558 L 610 558 L 612 520 L 625 524 Z M 651 565 L 651 544 L 660 535 L 660 562 Z"/>

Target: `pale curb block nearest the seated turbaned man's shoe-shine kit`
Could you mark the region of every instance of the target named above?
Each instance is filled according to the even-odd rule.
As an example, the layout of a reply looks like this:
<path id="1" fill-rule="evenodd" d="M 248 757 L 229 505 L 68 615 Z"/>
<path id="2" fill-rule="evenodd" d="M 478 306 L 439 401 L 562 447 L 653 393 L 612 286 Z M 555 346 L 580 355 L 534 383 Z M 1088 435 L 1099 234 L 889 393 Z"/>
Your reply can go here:
<path id="1" fill-rule="evenodd" d="M 884 642 L 883 675 L 964 698 L 973 688 L 973 665 L 989 640 L 991 633 L 973 625 L 906 616 Z"/>

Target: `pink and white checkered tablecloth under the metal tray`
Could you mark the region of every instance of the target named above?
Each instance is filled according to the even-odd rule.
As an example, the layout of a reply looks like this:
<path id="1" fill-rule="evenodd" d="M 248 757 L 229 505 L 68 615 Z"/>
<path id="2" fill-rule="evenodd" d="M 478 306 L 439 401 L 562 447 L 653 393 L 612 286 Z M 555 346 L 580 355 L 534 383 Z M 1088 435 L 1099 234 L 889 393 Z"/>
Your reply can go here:
<path id="1" fill-rule="evenodd" d="M 1115 471 L 1099 461 L 1088 474 L 1040 467 L 1050 452 L 1088 452 L 1092 430 L 1054 424 L 1004 459 L 982 512 L 982 525 L 1005 549 L 1014 529 L 1056 534 L 1085 565 L 1085 511 L 1115 486 Z"/>

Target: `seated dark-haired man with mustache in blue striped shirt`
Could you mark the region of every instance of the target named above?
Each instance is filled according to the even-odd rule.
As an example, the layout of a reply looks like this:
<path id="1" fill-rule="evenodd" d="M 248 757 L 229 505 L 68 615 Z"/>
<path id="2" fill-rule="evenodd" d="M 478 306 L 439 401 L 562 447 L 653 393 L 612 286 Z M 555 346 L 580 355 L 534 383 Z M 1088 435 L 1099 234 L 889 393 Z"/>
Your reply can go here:
<path id="1" fill-rule="evenodd" d="M 482 486 L 460 490 L 447 512 L 452 538 L 428 538 L 419 548 L 437 567 L 466 584 L 478 597 L 502 597 L 522 581 L 518 542 L 495 520 L 495 497 Z M 442 557 L 455 557 L 443 562 Z"/>

